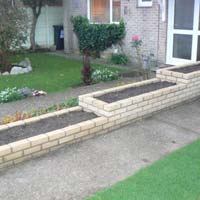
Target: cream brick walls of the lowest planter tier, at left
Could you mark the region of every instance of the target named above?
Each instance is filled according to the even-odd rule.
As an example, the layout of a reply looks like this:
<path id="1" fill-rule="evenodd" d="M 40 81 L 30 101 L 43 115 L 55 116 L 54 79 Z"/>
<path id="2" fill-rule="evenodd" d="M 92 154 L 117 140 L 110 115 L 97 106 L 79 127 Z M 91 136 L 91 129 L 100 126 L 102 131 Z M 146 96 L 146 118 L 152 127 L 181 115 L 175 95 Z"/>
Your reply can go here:
<path id="1" fill-rule="evenodd" d="M 81 110 L 81 107 L 75 107 L 10 123 L 8 125 L 1 125 L 0 134 L 1 132 L 9 130 L 13 127 L 29 125 L 43 119 Z M 78 142 L 85 138 L 92 137 L 96 133 L 104 133 L 108 131 L 109 128 L 109 121 L 106 117 L 97 117 L 59 130 L 0 146 L 0 168 L 46 154 L 49 151 L 60 148 L 65 144 Z"/>

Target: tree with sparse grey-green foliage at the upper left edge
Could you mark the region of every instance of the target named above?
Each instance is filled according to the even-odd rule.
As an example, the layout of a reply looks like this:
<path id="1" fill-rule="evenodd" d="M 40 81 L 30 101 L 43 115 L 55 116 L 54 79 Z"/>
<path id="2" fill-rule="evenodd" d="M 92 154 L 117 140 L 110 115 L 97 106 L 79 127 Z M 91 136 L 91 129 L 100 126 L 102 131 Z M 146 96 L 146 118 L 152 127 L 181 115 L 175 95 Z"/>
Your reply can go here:
<path id="1" fill-rule="evenodd" d="M 0 0 L 0 65 L 10 66 L 11 50 L 21 48 L 27 39 L 27 15 L 20 5 L 12 0 Z"/>

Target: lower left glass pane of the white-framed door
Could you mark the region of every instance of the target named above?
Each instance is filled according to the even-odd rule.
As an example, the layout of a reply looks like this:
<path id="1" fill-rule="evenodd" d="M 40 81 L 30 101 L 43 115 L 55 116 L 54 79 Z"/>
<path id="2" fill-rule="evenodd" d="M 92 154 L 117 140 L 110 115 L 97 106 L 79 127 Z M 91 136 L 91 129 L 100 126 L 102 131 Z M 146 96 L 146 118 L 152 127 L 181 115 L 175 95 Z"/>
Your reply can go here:
<path id="1" fill-rule="evenodd" d="M 174 35 L 174 58 L 191 60 L 192 55 L 192 35 Z"/>

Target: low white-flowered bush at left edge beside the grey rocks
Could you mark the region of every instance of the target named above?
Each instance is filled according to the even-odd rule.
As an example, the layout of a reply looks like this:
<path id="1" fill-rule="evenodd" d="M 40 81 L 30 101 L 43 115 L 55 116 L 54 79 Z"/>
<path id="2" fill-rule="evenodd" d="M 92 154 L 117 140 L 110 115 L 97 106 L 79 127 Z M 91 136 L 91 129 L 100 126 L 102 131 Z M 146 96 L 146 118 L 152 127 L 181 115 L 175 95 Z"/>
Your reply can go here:
<path id="1" fill-rule="evenodd" d="M 11 101 L 16 101 L 23 99 L 24 96 L 20 93 L 20 91 L 15 88 L 7 88 L 0 92 L 0 103 L 8 103 Z"/>

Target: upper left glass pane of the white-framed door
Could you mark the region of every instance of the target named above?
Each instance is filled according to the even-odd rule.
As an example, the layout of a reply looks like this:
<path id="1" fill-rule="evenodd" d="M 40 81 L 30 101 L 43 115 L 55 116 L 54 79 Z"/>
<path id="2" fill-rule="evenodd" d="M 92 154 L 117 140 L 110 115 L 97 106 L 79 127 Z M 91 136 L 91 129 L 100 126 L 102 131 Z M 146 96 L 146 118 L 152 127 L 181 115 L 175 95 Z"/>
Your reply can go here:
<path id="1" fill-rule="evenodd" d="M 175 29 L 193 29 L 194 18 L 194 0 L 176 0 L 175 1 Z"/>

